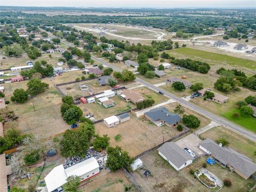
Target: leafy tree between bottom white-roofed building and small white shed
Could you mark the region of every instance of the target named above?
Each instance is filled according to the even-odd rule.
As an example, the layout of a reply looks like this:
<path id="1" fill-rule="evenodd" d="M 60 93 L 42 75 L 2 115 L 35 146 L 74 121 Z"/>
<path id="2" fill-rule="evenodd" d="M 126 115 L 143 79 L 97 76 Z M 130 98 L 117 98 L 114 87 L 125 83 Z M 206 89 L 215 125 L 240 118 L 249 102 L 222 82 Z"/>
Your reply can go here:
<path id="1" fill-rule="evenodd" d="M 130 164 L 134 161 L 134 158 L 131 158 L 121 147 L 108 147 L 107 154 L 106 166 L 109 167 L 110 171 L 116 171 L 122 168 L 131 170 Z"/>

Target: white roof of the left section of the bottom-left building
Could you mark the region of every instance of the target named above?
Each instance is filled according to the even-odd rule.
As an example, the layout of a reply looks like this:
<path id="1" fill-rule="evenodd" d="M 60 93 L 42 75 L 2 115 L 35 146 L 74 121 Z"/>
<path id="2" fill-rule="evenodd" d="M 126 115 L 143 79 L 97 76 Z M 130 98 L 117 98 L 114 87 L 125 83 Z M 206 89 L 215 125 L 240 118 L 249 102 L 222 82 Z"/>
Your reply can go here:
<path id="1" fill-rule="evenodd" d="M 66 179 L 67 175 L 62 164 L 54 167 L 44 178 L 48 191 L 53 191 L 64 185 L 67 182 Z"/>

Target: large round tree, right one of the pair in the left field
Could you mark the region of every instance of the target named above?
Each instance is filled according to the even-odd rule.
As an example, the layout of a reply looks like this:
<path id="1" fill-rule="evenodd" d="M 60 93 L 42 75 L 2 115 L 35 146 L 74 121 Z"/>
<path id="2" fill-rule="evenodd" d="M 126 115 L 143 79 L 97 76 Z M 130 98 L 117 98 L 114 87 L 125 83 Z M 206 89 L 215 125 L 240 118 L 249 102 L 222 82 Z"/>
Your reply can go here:
<path id="1" fill-rule="evenodd" d="M 30 79 L 27 83 L 28 89 L 27 92 L 30 95 L 37 95 L 43 93 L 46 89 L 49 88 L 49 84 L 41 82 L 41 79 Z"/>

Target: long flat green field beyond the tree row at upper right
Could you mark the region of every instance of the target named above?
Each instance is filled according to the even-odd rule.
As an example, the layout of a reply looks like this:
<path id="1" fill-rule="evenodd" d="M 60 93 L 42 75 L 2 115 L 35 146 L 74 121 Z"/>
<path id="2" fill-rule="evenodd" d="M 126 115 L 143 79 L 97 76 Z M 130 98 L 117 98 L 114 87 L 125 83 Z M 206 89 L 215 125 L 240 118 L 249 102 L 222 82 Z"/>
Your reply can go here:
<path id="1" fill-rule="evenodd" d="M 246 67 L 249 69 L 256 69 L 256 62 L 251 61 L 251 60 L 246 60 L 246 59 L 240 59 L 236 57 L 231 57 L 228 55 L 223 55 L 219 53 L 212 53 L 212 52 L 207 52 L 207 51 L 201 51 L 201 50 L 195 50 L 195 49 L 190 49 L 188 47 L 182 47 L 179 49 L 174 49 L 171 50 L 170 53 L 178 53 L 185 55 L 186 58 L 190 59 L 197 59 L 197 60 L 202 60 L 206 62 L 211 62 L 215 64 L 224 64 L 223 66 L 230 65 L 230 66 L 241 66 L 241 67 Z"/>

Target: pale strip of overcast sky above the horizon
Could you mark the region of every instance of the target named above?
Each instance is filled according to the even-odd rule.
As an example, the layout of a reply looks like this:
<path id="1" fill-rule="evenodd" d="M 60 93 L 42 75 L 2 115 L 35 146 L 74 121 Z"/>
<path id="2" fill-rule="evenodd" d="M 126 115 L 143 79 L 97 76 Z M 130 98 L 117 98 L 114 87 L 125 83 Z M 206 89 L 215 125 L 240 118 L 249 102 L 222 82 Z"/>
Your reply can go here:
<path id="1" fill-rule="evenodd" d="M 256 0 L 0 0 L 2 6 L 254 8 Z"/>

